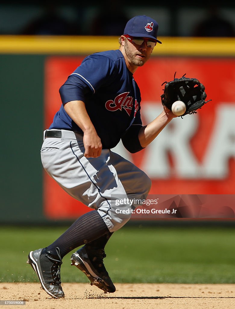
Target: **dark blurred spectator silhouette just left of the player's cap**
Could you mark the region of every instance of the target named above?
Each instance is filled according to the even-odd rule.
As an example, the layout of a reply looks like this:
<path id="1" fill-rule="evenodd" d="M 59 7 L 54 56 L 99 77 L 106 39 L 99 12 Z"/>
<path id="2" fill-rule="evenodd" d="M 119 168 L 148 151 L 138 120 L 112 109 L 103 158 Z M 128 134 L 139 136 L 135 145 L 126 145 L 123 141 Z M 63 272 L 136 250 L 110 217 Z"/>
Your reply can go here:
<path id="1" fill-rule="evenodd" d="M 91 23 L 90 35 L 119 36 L 122 34 L 127 21 L 130 19 L 123 10 L 122 3 L 104 1 Z"/>

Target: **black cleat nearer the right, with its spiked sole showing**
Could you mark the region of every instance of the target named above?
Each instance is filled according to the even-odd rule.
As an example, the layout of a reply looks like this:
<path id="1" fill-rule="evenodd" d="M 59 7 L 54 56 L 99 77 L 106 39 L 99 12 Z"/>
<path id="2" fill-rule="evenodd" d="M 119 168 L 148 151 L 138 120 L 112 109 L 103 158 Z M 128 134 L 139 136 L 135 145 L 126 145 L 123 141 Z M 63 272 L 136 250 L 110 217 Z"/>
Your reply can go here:
<path id="1" fill-rule="evenodd" d="M 71 256 L 71 265 L 80 269 L 91 281 L 91 286 L 97 286 L 105 293 L 113 293 L 116 288 L 109 277 L 103 258 L 106 257 L 104 249 L 91 248 L 85 245 Z"/>

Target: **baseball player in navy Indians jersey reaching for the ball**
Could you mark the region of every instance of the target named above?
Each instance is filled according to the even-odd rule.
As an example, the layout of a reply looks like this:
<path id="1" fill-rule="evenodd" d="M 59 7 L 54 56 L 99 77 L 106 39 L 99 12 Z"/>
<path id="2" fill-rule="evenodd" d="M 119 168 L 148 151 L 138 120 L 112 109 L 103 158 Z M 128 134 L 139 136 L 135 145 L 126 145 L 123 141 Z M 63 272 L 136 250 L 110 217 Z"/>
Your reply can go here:
<path id="1" fill-rule="evenodd" d="M 143 66 L 157 43 L 158 23 L 135 16 L 126 23 L 120 48 L 86 57 L 60 87 L 61 107 L 44 131 L 41 160 L 47 173 L 72 197 L 92 211 L 78 218 L 58 239 L 31 251 L 28 263 L 42 288 L 52 297 L 64 297 L 60 281 L 63 257 L 85 273 L 105 293 L 115 286 L 105 269 L 105 245 L 114 231 L 130 219 L 130 204 L 116 212 L 118 197 L 143 199 L 149 177 L 110 149 L 120 140 L 131 153 L 152 142 L 175 117 L 163 111 L 143 126 L 141 95 L 133 74 Z"/>

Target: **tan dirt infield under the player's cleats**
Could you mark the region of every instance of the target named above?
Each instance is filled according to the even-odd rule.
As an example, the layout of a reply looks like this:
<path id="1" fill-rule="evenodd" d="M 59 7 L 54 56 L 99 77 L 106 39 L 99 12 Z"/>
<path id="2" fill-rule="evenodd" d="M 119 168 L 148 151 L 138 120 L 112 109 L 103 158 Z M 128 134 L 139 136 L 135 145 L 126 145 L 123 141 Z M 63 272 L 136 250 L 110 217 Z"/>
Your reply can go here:
<path id="1" fill-rule="evenodd" d="M 40 309 L 232 309 L 235 284 L 116 284 L 116 292 L 104 294 L 89 283 L 64 283 L 64 299 L 51 298 L 39 283 L 0 283 L 0 300 L 24 300 Z M 3 306 L 0 306 L 3 308 Z"/>

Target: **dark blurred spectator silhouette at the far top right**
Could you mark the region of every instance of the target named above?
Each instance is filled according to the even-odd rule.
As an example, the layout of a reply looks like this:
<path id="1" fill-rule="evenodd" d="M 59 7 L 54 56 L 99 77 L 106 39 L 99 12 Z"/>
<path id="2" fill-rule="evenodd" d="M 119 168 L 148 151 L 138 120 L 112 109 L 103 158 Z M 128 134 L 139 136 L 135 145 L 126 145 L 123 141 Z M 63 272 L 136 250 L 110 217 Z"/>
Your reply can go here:
<path id="1" fill-rule="evenodd" d="M 208 8 L 208 17 L 196 25 L 193 36 L 234 37 L 233 24 L 220 15 L 220 9 L 212 5 Z"/>

